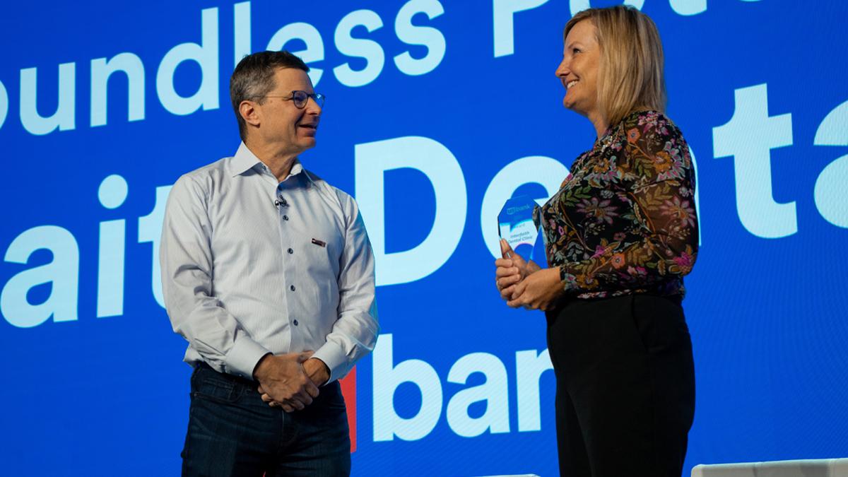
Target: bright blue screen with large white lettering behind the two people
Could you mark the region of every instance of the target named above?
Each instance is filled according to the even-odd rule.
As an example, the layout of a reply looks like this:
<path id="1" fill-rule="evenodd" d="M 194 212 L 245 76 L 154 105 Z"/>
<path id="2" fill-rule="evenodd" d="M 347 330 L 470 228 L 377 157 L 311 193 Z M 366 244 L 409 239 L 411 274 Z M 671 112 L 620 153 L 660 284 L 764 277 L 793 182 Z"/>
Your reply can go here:
<path id="1" fill-rule="evenodd" d="M 592 146 L 554 76 L 589 3 L 5 3 L 0 474 L 179 473 L 191 369 L 161 306 L 165 199 L 235 153 L 237 60 L 286 48 L 328 98 L 301 159 L 359 201 L 377 255 L 354 474 L 555 475 L 544 316 L 499 300 L 495 222 Z M 848 457 L 848 4 L 627 3 L 660 29 L 697 166 L 685 472 Z"/>

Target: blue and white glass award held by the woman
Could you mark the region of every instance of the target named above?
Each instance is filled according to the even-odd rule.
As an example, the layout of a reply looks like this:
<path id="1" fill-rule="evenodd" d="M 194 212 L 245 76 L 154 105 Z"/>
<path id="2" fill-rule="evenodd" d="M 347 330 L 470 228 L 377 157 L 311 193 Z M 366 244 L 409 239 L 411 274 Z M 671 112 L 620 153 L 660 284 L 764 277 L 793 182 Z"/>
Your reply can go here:
<path id="1" fill-rule="evenodd" d="M 525 261 L 547 267 L 544 255 L 544 233 L 541 231 L 541 210 L 528 195 L 516 195 L 506 201 L 498 214 L 498 233 Z"/>

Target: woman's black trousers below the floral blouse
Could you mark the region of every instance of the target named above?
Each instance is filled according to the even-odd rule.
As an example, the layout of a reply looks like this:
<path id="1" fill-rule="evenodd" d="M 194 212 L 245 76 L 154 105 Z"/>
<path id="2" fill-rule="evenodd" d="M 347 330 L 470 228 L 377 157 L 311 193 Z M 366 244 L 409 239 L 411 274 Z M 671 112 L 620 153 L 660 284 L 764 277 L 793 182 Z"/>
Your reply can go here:
<path id="1" fill-rule="evenodd" d="M 695 365 L 679 302 L 570 300 L 549 311 L 563 477 L 679 477 Z"/>

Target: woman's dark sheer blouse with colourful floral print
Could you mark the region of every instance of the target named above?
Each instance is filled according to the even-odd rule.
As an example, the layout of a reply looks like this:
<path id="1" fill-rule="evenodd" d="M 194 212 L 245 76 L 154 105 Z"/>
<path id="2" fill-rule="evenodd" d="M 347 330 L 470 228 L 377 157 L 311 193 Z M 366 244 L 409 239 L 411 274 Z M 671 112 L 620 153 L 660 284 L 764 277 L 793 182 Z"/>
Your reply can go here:
<path id="1" fill-rule="evenodd" d="M 698 253 L 694 192 L 689 147 L 666 116 L 634 112 L 608 129 L 540 210 L 566 295 L 683 298 Z"/>

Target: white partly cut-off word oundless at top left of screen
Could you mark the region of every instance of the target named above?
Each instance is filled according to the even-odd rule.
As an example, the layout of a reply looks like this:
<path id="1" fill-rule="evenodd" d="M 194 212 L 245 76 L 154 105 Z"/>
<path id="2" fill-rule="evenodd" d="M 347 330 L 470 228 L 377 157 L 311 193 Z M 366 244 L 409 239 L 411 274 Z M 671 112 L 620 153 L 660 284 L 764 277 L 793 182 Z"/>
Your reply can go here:
<path id="1" fill-rule="evenodd" d="M 413 25 L 412 18 L 426 16 L 432 20 L 444 14 L 438 0 L 410 0 L 399 9 L 394 19 L 394 33 L 406 46 L 426 48 L 427 54 L 413 57 L 409 51 L 393 56 L 399 71 L 409 76 L 419 76 L 435 70 L 444 59 L 446 42 L 444 35 L 432 26 Z M 218 8 L 205 8 L 201 13 L 201 41 L 176 45 L 165 53 L 156 71 L 156 93 L 162 106 L 174 115 L 190 115 L 198 109 L 218 109 L 220 106 L 219 84 L 219 22 Z M 336 79 L 348 87 L 362 87 L 377 79 L 386 62 L 386 53 L 380 43 L 362 37 L 354 37 L 353 31 L 365 29 L 371 33 L 382 28 L 380 15 L 372 10 L 360 9 L 345 15 L 338 22 L 333 41 L 339 53 L 355 59 L 364 59 L 365 67 L 354 70 L 349 62 L 332 69 Z M 250 2 L 233 5 L 234 49 L 233 65 L 244 55 L 253 51 L 251 42 Z M 291 23 L 280 28 L 271 36 L 264 49 L 281 50 L 289 42 L 304 44 L 305 48 L 293 51 L 307 64 L 324 59 L 324 40 L 315 26 L 308 23 Z M 201 80 L 191 96 L 176 92 L 174 76 L 177 67 L 192 61 L 200 66 Z M 109 78 L 115 73 L 127 78 L 127 120 L 141 121 L 145 118 L 145 67 L 135 53 L 119 53 L 110 59 L 98 58 L 91 61 L 91 126 L 107 124 L 107 102 Z M 324 70 L 312 67 L 310 78 L 313 84 L 321 81 Z M 42 116 L 38 112 L 37 68 L 20 70 L 20 122 L 27 132 L 35 135 L 48 134 L 56 130 L 75 129 L 76 63 L 59 65 L 59 99 L 52 115 Z M 42 87 L 42 90 L 45 89 Z M 0 127 L 8 114 L 8 93 L 0 82 Z"/>

